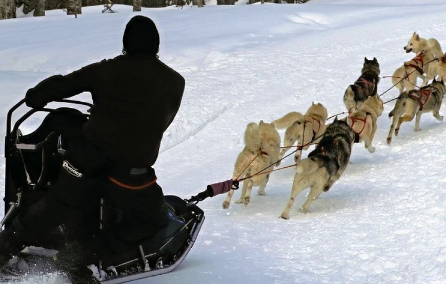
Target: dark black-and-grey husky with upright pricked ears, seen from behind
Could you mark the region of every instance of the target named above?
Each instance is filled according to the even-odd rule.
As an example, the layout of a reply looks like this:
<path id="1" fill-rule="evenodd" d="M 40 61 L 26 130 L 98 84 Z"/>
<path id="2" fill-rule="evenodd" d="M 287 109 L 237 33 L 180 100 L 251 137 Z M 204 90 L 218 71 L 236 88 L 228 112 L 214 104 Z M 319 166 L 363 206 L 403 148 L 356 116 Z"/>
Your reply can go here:
<path id="1" fill-rule="evenodd" d="M 373 57 L 373 60 L 364 58 L 361 76 L 350 85 L 344 93 L 344 104 L 350 111 L 353 107 L 361 107 L 361 104 L 367 100 L 369 96 L 375 96 L 378 92 L 379 83 L 379 63 Z"/>

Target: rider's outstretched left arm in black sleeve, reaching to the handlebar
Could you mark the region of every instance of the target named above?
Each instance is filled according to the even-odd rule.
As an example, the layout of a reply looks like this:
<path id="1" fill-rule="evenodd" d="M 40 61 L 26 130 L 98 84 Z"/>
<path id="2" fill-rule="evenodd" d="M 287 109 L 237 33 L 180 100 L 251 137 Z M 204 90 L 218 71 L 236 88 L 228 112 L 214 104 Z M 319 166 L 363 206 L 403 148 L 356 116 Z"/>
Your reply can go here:
<path id="1" fill-rule="evenodd" d="M 25 97 L 26 105 L 44 107 L 52 101 L 66 99 L 83 92 L 91 92 L 95 74 L 102 62 L 87 65 L 65 76 L 54 75 L 43 80 L 28 90 Z"/>

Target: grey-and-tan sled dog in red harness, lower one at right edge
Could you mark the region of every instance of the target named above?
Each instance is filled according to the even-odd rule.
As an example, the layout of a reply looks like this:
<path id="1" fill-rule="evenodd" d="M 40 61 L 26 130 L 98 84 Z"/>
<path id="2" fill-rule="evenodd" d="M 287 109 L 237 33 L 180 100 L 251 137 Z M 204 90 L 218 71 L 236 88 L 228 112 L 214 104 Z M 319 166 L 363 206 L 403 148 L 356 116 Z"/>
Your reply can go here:
<path id="1" fill-rule="evenodd" d="M 395 136 L 398 136 L 401 123 L 412 121 L 415 115 L 415 131 L 421 130 L 421 114 L 432 112 L 437 120 L 443 120 L 443 116 L 440 116 L 440 107 L 445 91 L 444 81 L 437 81 L 434 78 L 431 84 L 424 86 L 420 90 L 402 92 L 395 103 L 395 107 L 389 113 L 389 117 L 393 118 L 393 120 L 387 143 L 390 144 L 392 142 L 393 131 L 395 130 Z"/>

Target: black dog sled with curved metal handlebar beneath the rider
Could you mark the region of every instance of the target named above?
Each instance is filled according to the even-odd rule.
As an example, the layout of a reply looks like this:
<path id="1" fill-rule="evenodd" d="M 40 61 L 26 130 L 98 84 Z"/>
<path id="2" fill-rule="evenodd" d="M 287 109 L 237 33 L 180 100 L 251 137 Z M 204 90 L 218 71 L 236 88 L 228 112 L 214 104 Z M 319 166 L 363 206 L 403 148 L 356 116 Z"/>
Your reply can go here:
<path id="1" fill-rule="evenodd" d="M 14 216 L 28 210 L 53 186 L 62 167 L 64 141 L 88 120 L 88 115 L 73 108 L 32 110 L 18 119 L 11 129 L 12 112 L 21 103 L 8 113 L 5 217 L 1 224 L 6 227 L 10 226 Z M 18 127 L 37 111 L 49 114 L 34 132 L 22 135 Z M 189 203 L 178 196 L 167 195 L 165 200 L 170 215 L 169 225 L 135 245 L 134 249 L 118 254 L 110 252 L 109 257 L 93 264 L 101 272 L 97 275 L 100 280 L 113 284 L 163 274 L 184 260 L 204 222 L 204 212 L 196 203 Z M 104 225 L 108 227 L 114 221 L 108 218 L 114 213 L 108 212 L 110 209 L 104 204 L 107 201 L 98 204 L 97 219 L 92 222 L 93 231 L 101 230 Z M 35 246 L 42 250 L 57 250 L 65 245 L 67 239 L 60 228 L 48 232 L 47 236 L 47 239 L 36 241 Z M 32 251 L 35 253 L 38 249 Z"/>

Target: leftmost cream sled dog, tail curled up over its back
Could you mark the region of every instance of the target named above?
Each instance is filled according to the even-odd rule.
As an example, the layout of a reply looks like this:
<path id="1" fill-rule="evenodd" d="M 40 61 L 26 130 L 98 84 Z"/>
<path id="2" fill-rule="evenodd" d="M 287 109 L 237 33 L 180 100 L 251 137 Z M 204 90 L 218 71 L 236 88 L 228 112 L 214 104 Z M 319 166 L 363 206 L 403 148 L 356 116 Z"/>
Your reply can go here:
<path id="1" fill-rule="evenodd" d="M 245 148 L 240 152 L 235 161 L 233 180 L 251 177 L 260 170 L 271 170 L 277 162 L 280 152 L 280 136 L 274 127 L 274 123 L 266 123 L 260 120 L 259 124 L 251 122 L 245 130 Z M 268 167 L 271 165 L 270 167 Z M 268 168 L 267 168 L 268 167 Z M 270 178 L 269 173 L 261 173 L 243 181 L 240 198 L 235 203 L 248 205 L 251 200 L 253 186 L 258 186 L 258 194 L 265 195 L 265 187 Z M 229 207 L 234 190 L 230 190 L 222 206 Z"/>

